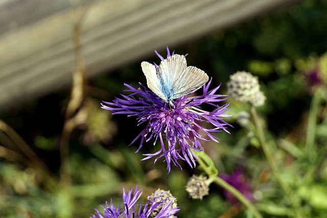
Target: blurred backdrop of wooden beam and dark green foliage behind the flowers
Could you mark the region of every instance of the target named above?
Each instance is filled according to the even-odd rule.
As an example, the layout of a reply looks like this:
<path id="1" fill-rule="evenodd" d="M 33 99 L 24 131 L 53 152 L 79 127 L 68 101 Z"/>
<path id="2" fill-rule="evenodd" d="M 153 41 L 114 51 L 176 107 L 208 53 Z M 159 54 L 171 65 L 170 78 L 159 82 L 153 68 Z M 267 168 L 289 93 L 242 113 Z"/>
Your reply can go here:
<path id="1" fill-rule="evenodd" d="M 154 50 L 165 57 L 166 46 L 189 54 L 188 65 L 222 84 L 220 94 L 237 71 L 259 77 L 268 140 L 296 145 L 273 143 L 276 161 L 286 180 L 300 183 L 293 176 L 310 163 L 296 154 L 312 96 L 327 81 L 326 10 L 326 0 L 0 1 L 0 217 L 89 217 L 135 184 L 144 201 L 154 189 L 170 189 L 178 217 L 245 217 L 218 186 L 191 200 L 184 186 L 200 171 L 181 163 L 167 175 L 165 162 L 140 161 L 157 150 L 152 142 L 136 154 L 139 141 L 128 146 L 144 126 L 100 108 L 124 83 L 146 84 L 141 62 L 159 63 Z M 230 101 L 228 114 L 249 108 Z M 316 122 L 318 172 L 301 189 L 308 217 L 327 214 L 325 106 Z M 203 143 L 206 153 L 223 174 L 241 170 L 264 217 L 290 217 L 258 140 L 235 120 L 227 119 L 231 135 L 219 133 L 219 144 Z"/>

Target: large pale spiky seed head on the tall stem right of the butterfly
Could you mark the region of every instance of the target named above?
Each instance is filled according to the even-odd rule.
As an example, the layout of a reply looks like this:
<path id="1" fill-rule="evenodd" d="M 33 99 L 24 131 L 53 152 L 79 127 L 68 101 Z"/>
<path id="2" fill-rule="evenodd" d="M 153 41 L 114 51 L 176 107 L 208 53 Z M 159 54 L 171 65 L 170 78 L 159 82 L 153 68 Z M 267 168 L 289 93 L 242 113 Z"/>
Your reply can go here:
<path id="1" fill-rule="evenodd" d="M 230 76 L 227 83 L 228 93 L 236 101 L 250 102 L 253 106 L 262 106 L 266 100 L 260 91 L 258 77 L 245 71 L 239 71 Z"/>

